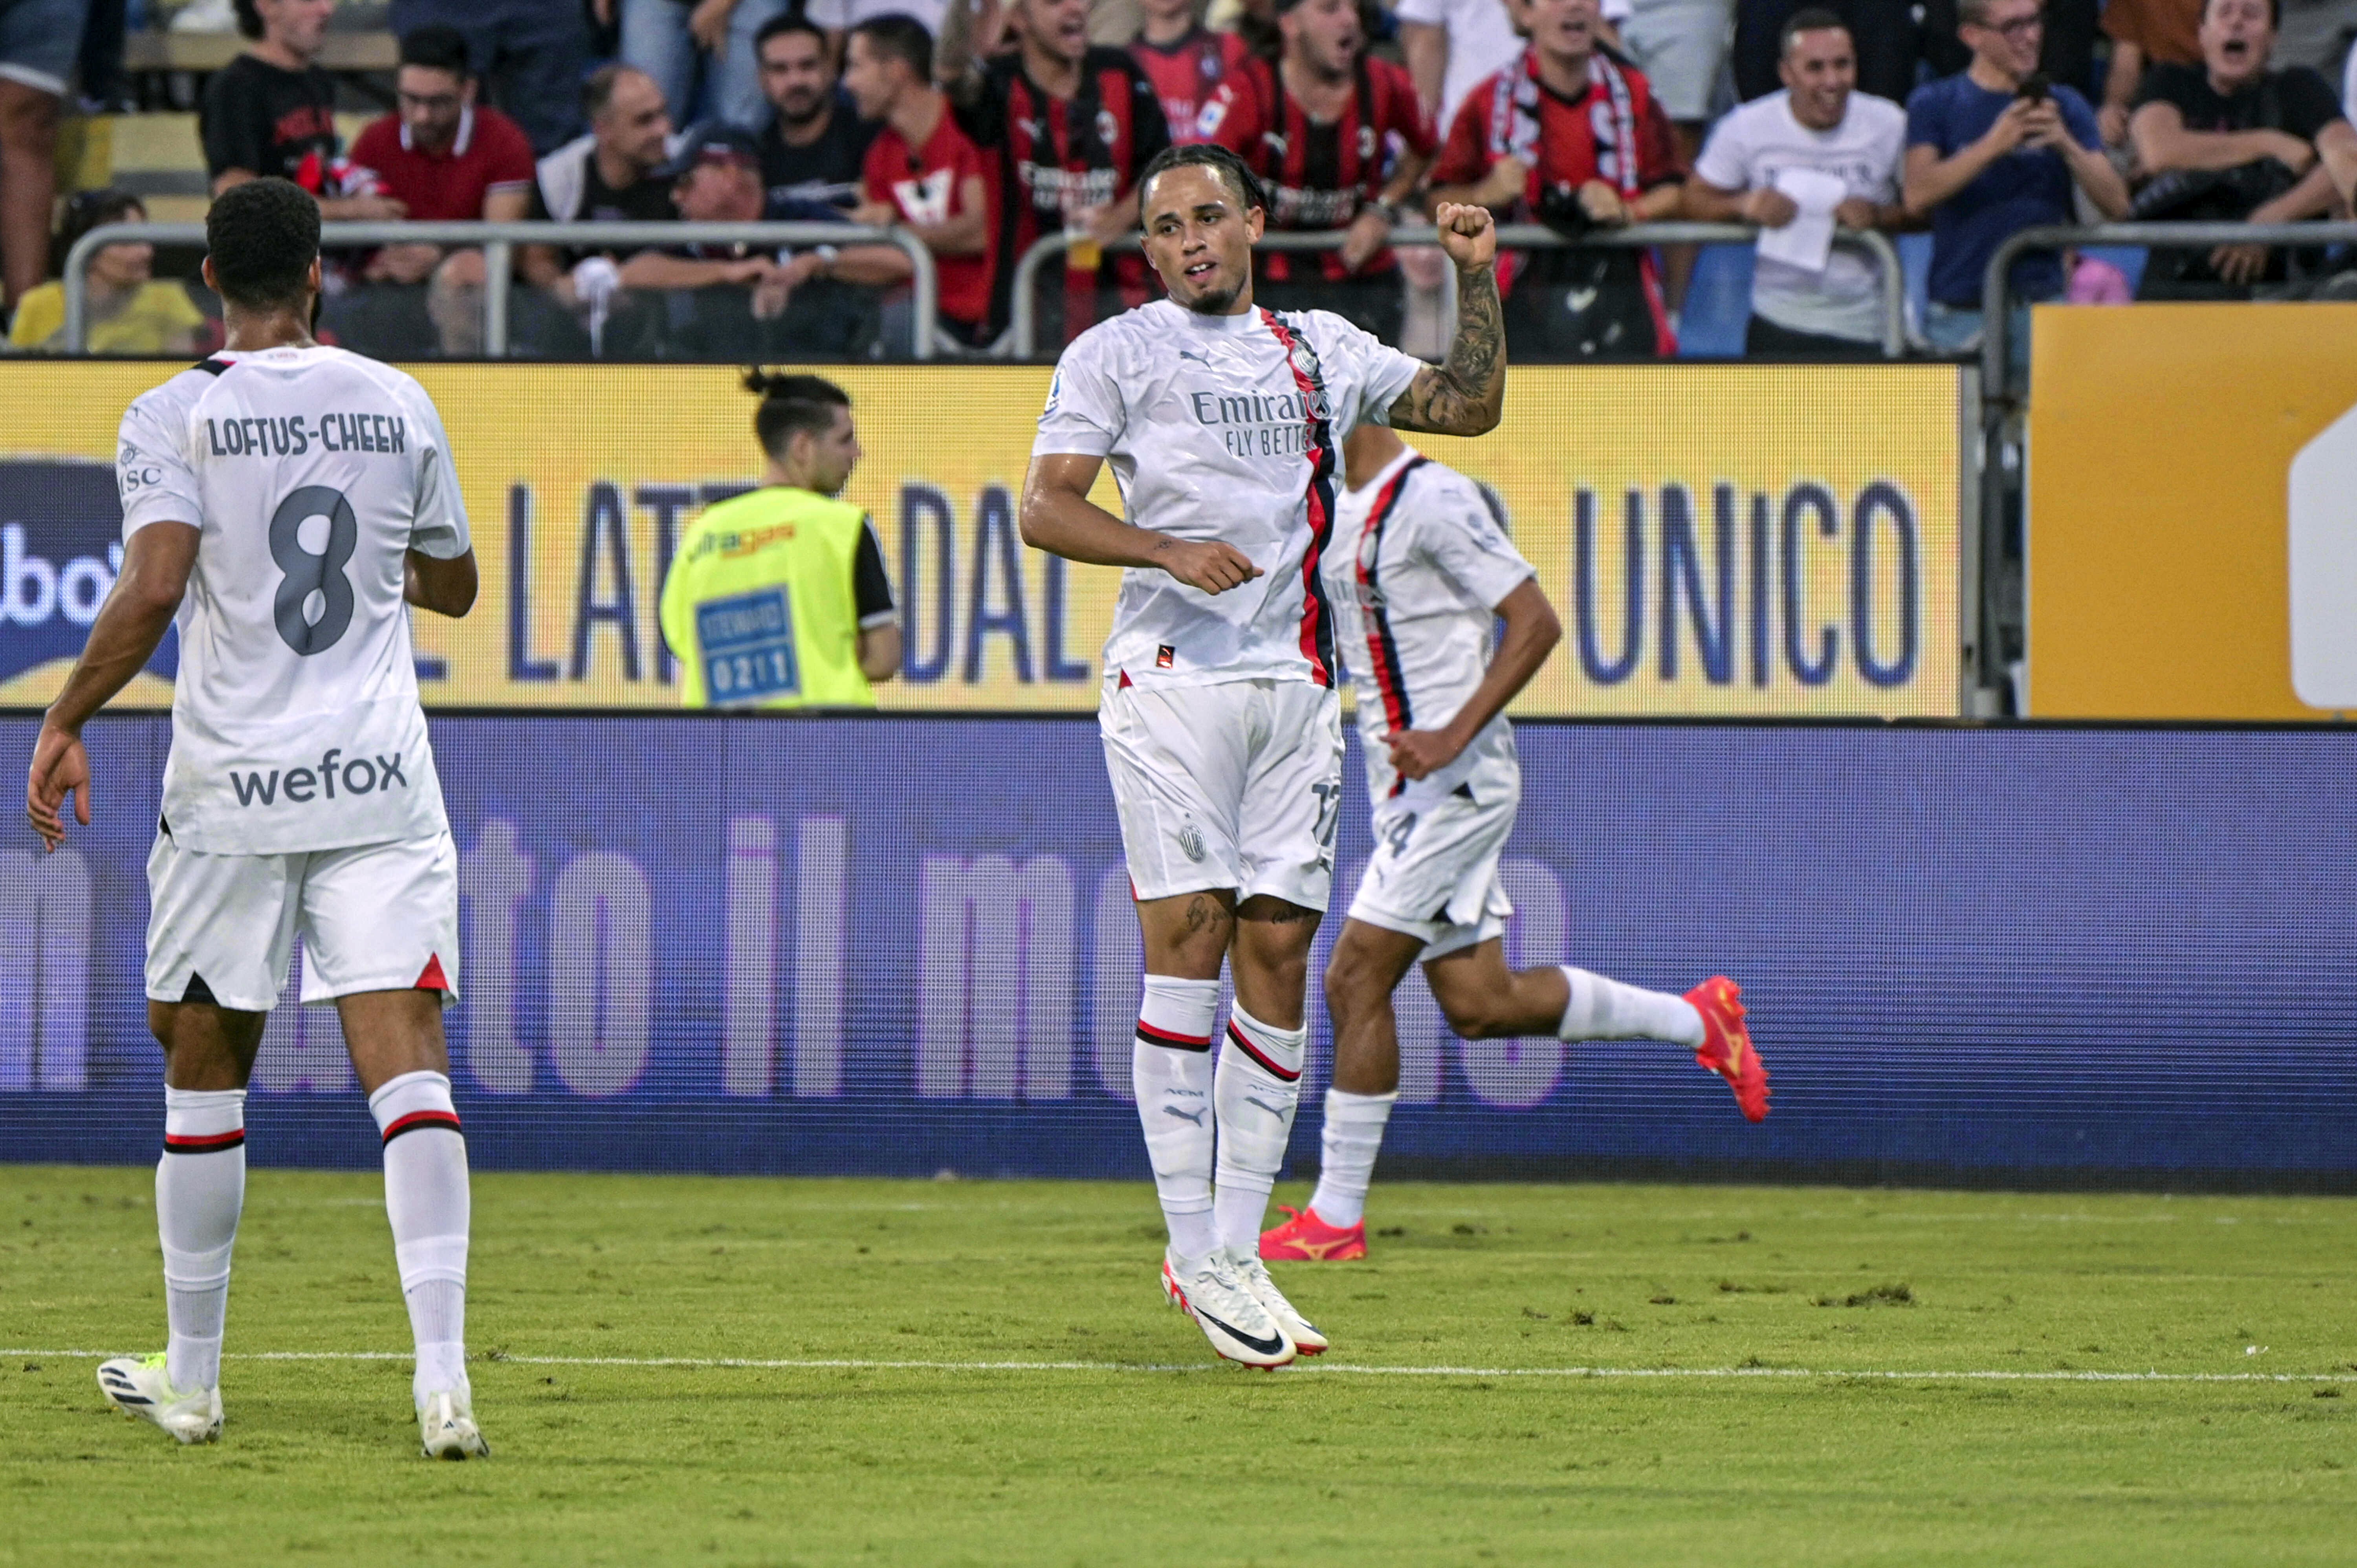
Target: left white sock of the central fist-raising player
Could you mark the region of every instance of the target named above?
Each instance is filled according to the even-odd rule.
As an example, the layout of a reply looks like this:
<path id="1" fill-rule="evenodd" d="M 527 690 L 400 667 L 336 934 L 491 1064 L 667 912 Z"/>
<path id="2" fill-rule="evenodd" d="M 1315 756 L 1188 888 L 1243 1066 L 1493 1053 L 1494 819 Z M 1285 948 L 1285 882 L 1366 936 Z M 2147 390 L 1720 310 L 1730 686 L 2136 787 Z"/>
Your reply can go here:
<path id="1" fill-rule="evenodd" d="M 1211 1026 L 1219 981 L 1146 976 L 1129 1087 L 1138 1096 L 1146 1158 L 1171 1231 L 1171 1252 L 1197 1264 L 1219 1247 L 1211 1231 Z"/>

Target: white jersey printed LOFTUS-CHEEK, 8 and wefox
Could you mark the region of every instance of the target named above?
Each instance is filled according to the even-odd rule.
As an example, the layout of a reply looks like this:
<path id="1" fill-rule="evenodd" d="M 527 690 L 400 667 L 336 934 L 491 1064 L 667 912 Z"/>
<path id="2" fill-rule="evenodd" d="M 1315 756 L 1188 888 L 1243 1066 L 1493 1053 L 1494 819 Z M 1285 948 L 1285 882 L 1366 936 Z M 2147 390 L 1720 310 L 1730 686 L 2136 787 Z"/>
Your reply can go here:
<path id="1" fill-rule="evenodd" d="M 424 387 L 344 349 L 219 354 L 123 415 L 123 538 L 193 523 L 163 816 L 181 849 L 441 832 L 403 556 L 467 554 Z"/>

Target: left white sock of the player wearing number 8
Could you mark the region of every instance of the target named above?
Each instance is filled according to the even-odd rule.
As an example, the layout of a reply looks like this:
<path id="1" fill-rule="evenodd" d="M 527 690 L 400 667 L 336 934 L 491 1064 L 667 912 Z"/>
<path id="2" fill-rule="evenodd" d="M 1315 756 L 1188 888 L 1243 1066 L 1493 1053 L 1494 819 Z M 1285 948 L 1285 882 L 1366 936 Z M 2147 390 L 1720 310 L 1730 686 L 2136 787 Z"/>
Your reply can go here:
<path id="1" fill-rule="evenodd" d="M 229 1252 L 243 1207 L 245 1089 L 165 1089 L 156 1236 L 170 1323 L 163 1370 L 179 1394 L 222 1386 Z"/>

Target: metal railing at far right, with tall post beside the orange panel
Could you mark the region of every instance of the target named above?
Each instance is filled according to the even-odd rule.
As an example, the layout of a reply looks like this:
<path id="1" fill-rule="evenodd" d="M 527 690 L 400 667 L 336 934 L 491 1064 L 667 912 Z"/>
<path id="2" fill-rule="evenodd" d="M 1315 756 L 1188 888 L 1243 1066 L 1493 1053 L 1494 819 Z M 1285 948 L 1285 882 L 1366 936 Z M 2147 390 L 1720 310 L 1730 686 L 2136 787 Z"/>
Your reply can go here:
<path id="1" fill-rule="evenodd" d="M 2022 229 L 1989 257 L 1980 283 L 1980 646 L 1982 684 L 1994 689 L 2003 681 L 2003 658 L 1999 622 L 2003 606 L 2003 542 L 2006 542 L 2006 441 L 2008 424 L 2027 408 L 2027 396 L 2015 396 L 2013 377 L 2013 264 L 2032 250 L 2067 250 L 2074 245 L 2140 248 L 2140 250 L 2204 250 L 2216 245 L 2350 245 L 2357 243 L 2357 224 L 2053 224 Z M 2027 462 L 2018 469 L 2027 474 Z M 2022 502 L 2027 507 L 2027 498 Z M 2027 542 L 2027 512 L 2025 512 Z"/>

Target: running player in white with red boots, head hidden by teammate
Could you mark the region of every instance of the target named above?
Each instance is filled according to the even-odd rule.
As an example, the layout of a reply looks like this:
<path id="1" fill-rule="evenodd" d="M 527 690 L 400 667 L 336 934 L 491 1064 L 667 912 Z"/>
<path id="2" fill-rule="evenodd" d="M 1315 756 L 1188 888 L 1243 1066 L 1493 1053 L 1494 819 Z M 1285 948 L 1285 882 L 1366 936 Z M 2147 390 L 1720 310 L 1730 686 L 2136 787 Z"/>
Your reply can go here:
<path id="1" fill-rule="evenodd" d="M 1523 764 L 1504 714 L 1563 625 L 1471 479 L 1388 429 L 1360 431 L 1348 455 L 1322 571 L 1358 696 L 1374 858 L 1325 976 L 1334 1085 L 1318 1191 L 1261 1236 L 1263 1259 L 1367 1254 L 1367 1184 L 1400 1089 L 1391 993 L 1417 962 L 1468 1040 L 1669 1040 L 1725 1078 L 1747 1118 L 1768 1115 L 1768 1068 L 1735 981 L 1673 997 L 1570 964 L 1506 969 L 1513 905 L 1497 861 Z"/>

